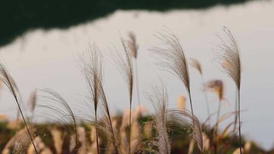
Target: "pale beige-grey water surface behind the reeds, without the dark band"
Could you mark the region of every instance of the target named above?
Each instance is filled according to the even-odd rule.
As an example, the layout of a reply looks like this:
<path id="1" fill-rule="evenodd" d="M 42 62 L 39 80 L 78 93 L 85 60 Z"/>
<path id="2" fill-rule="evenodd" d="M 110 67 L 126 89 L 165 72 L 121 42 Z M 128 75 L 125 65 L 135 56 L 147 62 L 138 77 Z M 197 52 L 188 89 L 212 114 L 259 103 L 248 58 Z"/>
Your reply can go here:
<path id="1" fill-rule="evenodd" d="M 95 41 L 106 55 L 106 93 L 114 111 L 122 109 L 121 106 L 126 107 L 128 100 L 123 79 L 108 55 L 114 50 L 114 45 L 119 47 L 119 36 L 123 36 L 127 30 L 133 30 L 140 45 L 138 64 L 141 91 L 149 90 L 151 85 L 157 84 L 158 77 L 162 78 L 169 89 L 172 107 L 177 96 L 187 92 L 177 78 L 157 69 L 155 59 L 148 51 L 158 43 L 153 33 L 166 26 L 178 35 L 188 58 L 200 60 L 205 80 L 222 79 L 225 82 L 225 98 L 228 100 L 223 105 L 222 111 L 225 112 L 233 110 L 235 87 L 212 61 L 212 49 L 218 43 L 214 34 L 221 32 L 222 26 L 227 26 L 236 36 L 244 64 L 241 108 L 248 110 L 242 113 L 243 132 L 247 138 L 269 148 L 274 140 L 269 136 L 274 129 L 273 7 L 274 1 L 254 1 L 209 10 L 176 10 L 165 13 L 116 11 L 106 18 L 66 30 L 30 31 L 14 43 L 1 48 L 0 52 L 18 83 L 24 100 L 27 100 L 34 88 L 49 87 L 60 92 L 79 111 L 79 103 L 83 101 L 83 95 L 87 91 L 76 56 L 87 49 L 89 40 Z M 204 120 L 203 115 L 207 111 L 201 92 L 201 80 L 195 70 L 190 69 L 190 74 L 193 108 L 197 117 Z M 1 96 L 1 103 L 5 107 L 0 108 L 0 112 L 15 117 L 16 104 L 13 98 L 7 91 L 2 91 Z M 141 99 L 146 104 L 143 95 Z M 212 110 L 217 109 L 218 99 L 210 95 L 210 101 Z M 136 98 L 133 98 L 133 106 L 136 105 L 135 102 Z M 187 107 L 190 107 L 189 104 Z"/>

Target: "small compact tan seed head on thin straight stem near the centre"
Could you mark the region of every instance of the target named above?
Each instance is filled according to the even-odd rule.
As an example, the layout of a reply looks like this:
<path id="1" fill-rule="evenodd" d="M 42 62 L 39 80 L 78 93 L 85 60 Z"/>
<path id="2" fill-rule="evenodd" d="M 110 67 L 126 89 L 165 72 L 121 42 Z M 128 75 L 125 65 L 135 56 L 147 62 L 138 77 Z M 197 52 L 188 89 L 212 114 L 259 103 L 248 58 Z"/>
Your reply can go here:
<path id="1" fill-rule="evenodd" d="M 138 78 L 138 64 L 137 64 L 137 57 L 138 57 L 138 49 L 139 46 L 136 42 L 136 35 L 130 31 L 128 32 L 128 40 L 126 42 L 126 45 L 128 47 L 129 53 L 130 55 L 134 58 L 134 65 L 135 65 L 135 78 L 136 78 L 136 95 L 137 95 L 137 101 L 138 101 L 138 105 L 141 106 L 141 102 L 140 102 L 140 91 L 139 91 L 139 78 Z M 142 117 L 142 112 L 140 112 L 140 115 Z"/>

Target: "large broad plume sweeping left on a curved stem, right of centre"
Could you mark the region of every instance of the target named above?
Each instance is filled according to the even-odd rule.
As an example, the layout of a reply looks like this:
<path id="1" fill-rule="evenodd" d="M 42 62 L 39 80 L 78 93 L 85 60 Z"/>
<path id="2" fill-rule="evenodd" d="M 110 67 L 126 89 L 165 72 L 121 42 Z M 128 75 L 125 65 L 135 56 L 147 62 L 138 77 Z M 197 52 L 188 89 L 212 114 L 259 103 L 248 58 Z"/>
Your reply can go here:
<path id="1" fill-rule="evenodd" d="M 190 82 L 189 82 L 189 71 L 185 52 L 181 46 L 178 37 L 172 32 L 158 32 L 155 36 L 162 42 L 164 47 L 154 47 L 151 50 L 155 53 L 158 59 L 161 61 L 158 65 L 176 75 L 184 84 L 191 106 L 191 114 L 194 117 L 191 93 L 190 93 Z M 193 119 L 194 123 L 194 119 Z"/>

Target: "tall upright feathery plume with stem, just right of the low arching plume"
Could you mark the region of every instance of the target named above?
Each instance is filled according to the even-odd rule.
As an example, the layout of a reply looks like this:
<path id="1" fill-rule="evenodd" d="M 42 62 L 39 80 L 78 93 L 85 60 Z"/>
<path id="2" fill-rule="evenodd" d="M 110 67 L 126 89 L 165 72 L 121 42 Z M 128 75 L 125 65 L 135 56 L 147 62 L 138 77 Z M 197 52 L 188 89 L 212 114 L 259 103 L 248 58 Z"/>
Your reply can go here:
<path id="1" fill-rule="evenodd" d="M 95 43 L 89 44 L 88 52 L 79 56 L 82 63 L 82 72 L 85 76 L 95 111 L 95 124 L 97 125 L 97 105 L 99 103 L 100 84 L 102 81 L 102 62 L 99 49 Z M 96 131 L 97 153 L 99 153 L 98 134 Z"/>

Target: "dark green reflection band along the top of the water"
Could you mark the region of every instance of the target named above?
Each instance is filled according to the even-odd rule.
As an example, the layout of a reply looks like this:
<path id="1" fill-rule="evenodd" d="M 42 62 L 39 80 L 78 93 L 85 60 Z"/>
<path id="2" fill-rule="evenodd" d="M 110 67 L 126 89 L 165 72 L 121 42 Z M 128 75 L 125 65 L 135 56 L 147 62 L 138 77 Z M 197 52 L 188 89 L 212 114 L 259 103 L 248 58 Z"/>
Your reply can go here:
<path id="1" fill-rule="evenodd" d="M 83 22 L 104 17 L 115 10 L 154 10 L 202 9 L 214 5 L 244 3 L 248 0 L 154 0 L 154 1 L 5 1 L 0 4 L 0 46 L 12 42 L 24 31 L 33 28 L 67 28 Z"/>

